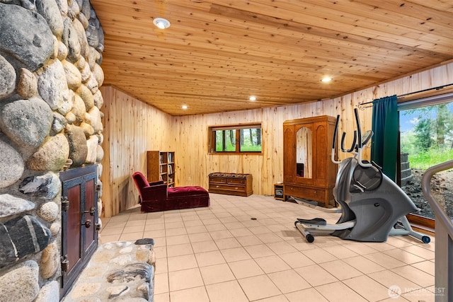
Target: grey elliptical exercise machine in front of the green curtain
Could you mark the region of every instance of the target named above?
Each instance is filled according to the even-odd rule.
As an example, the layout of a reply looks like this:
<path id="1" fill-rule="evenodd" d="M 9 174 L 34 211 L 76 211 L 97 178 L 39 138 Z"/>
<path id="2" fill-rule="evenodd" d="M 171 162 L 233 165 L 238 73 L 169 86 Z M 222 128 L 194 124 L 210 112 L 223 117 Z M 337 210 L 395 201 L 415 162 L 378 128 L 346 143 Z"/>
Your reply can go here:
<path id="1" fill-rule="evenodd" d="M 417 207 L 375 163 L 362 160 L 362 148 L 372 138 L 373 132 L 362 136 L 358 110 L 355 108 L 357 130 L 350 149 L 345 149 L 345 132 L 341 138 L 341 151 L 354 154 L 343 161 L 335 161 L 338 123 L 337 115 L 331 160 L 339 163 L 333 197 L 340 204 L 341 216 L 336 224 L 325 219 L 297 219 L 294 226 L 309 243 L 318 234 L 337 236 L 347 240 L 384 242 L 388 236 L 412 236 L 429 243 L 430 237 L 413 231 L 406 214 Z"/>

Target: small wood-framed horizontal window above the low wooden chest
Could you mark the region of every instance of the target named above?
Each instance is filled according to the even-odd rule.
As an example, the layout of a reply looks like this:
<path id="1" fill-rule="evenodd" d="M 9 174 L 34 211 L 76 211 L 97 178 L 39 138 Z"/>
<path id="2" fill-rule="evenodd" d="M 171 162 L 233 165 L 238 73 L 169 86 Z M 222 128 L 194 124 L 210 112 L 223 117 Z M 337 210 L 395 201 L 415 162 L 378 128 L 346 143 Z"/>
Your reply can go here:
<path id="1" fill-rule="evenodd" d="M 261 124 L 209 127 L 210 153 L 261 153 Z"/>

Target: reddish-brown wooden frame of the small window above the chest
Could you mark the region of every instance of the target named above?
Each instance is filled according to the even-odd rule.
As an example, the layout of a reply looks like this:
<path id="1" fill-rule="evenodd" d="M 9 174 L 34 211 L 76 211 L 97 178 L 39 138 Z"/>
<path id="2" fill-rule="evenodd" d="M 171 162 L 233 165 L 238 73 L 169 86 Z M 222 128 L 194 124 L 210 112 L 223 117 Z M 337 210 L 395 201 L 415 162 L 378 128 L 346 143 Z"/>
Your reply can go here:
<path id="1" fill-rule="evenodd" d="M 243 129 L 260 129 L 260 142 L 261 142 L 261 150 L 260 151 L 241 151 L 241 144 L 240 144 L 240 132 Z M 235 144 L 236 150 L 235 151 L 216 151 L 216 132 L 217 131 L 226 131 L 226 130 L 234 130 L 235 131 Z M 263 125 L 261 122 L 253 122 L 247 124 L 225 124 L 225 125 L 212 125 L 208 126 L 208 146 L 207 151 L 208 154 L 219 154 L 219 155 L 239 155 L 239 154 L 255 154 L 261 155 L 263 154 Z M 223 137 L 225 138 L 225 137 Z"/>

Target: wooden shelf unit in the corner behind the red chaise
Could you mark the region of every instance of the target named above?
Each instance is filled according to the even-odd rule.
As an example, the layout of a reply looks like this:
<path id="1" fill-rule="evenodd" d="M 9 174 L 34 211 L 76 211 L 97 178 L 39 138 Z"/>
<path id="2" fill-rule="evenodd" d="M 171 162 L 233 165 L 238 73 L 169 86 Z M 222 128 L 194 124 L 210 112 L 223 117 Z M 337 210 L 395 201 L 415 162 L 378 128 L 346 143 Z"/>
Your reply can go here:
<path id="1" fill-rule="evenodd" d="M 168 187 L 175 187 L 175 153 L 147 151 L 147 180 L 163 180 Z"/>

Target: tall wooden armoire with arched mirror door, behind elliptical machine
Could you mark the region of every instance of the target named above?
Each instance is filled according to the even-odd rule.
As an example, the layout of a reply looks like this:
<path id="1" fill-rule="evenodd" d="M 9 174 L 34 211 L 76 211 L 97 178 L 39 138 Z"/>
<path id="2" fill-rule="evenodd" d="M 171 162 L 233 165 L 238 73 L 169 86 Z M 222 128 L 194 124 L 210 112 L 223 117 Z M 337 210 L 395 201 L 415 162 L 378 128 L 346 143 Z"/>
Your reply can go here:
<path id="1" fill-rule="evenodd" d="M 331 161 L 335 117 L 283 122 L 283 185 L 286 196 L 335 207 L 337 165 Z"/>

